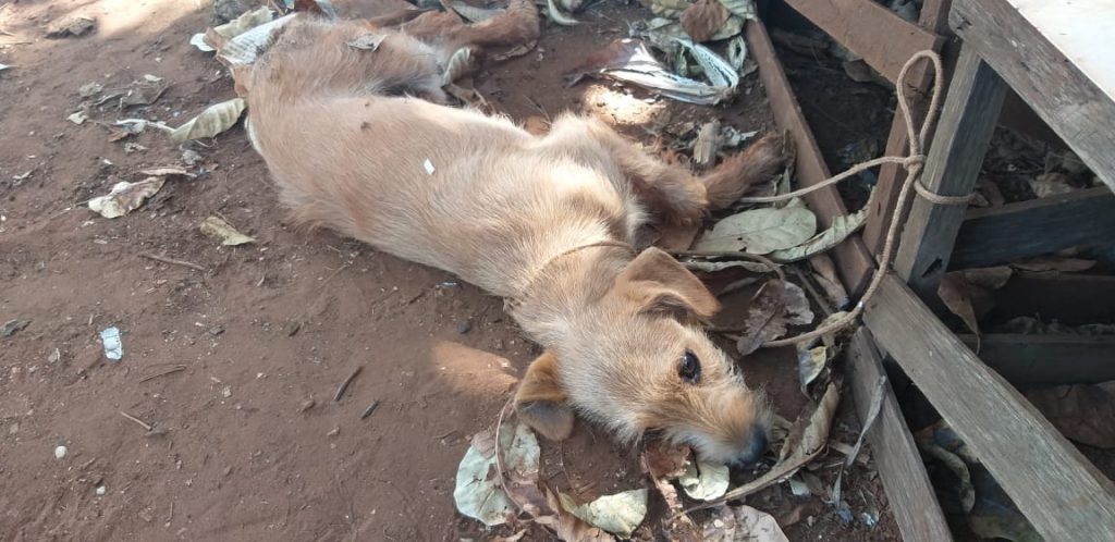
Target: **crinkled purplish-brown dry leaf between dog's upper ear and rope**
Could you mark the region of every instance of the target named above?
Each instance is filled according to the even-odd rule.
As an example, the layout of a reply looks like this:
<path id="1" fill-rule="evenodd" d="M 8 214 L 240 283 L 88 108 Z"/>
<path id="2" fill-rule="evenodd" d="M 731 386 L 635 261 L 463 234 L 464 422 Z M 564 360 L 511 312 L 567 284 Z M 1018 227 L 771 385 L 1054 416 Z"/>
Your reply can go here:
<path id="1" fill-rule="evenodd" d="M 767 281 L 752 298 L 744 322 L 746 331 L 736 341 L 736 348 L 746 356 L 785 335 L 787 326 L 812 322 L 813 311 L 799 285 L 780 280 Z"/>

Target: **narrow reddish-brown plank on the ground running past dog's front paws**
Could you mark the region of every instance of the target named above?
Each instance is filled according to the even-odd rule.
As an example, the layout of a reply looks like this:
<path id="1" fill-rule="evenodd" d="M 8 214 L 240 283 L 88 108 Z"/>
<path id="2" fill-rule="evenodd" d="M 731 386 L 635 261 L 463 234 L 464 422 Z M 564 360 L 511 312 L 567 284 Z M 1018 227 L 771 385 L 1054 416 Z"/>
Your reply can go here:
<path id="1" fill-rule="evenodd" d="M 747 47 L 759 66 L 759 78 L 766 88 L 775 123 L 782 129 L 789 132 L 794 138 L 797 149 L 794 171 L 797 173 L 799 184 L 811 186 L 831 177 L 832 173 L 821 157 L 817 142 L 805 122 L 805 115 L 802 114 L 802 106 L 794 98 L 786 74 L 782 70 L 778 57 L 775 56 L 766 27 L 758 21 L 748 21 L 745 31 Z M 835 217 L 847 214 L 844 201 L 841 200 L 835 186 L 807 194 L 805 202 L 816 213 L 821 228 L 828 228 Z M 830 254 L 840 270 L 845 288 L 850 291 L 860 291 L 864 288 L 866 284 L 864 278 L 870 277 L 875 261 L 859 235 L 853 235 L 836 245 Z"/>

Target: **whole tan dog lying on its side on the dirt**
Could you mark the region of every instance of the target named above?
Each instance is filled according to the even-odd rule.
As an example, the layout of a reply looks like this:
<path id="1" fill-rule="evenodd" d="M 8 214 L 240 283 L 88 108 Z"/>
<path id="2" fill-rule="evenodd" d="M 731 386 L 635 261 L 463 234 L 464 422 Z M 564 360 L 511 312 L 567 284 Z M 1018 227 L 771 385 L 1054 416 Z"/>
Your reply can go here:
<path id="1" fill-rule="evenodd" d="M 457 48 L 537 36 L 531 0 L 482 30 L 444 16 L 396 29 L 300 16 L 280 30 L 245 88 L 283 203 L 508 299 L 544 348 L 515 407 L 547 438 L 566 437 L 575 413 L 628 442 L 657 429 L 708 461 L 754 463 L 767 407 L 699 327 L 716 298 L 666 252 L 631 245 L 655 221 L 699 221 L 769 178 L 780 138 L 695 176 L 595 119 L 566 115 L 535 137 L 439 105 Z M 347 45 L 369 32 L 374 50 Z"/>

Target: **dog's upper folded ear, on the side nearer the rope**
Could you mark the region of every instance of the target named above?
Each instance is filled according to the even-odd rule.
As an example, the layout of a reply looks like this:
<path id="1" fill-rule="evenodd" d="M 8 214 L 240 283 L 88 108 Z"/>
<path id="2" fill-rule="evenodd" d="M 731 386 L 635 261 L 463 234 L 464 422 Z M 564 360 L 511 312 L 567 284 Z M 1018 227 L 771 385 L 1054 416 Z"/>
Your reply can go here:
<path id="1" fill-rule="evenodd" d="M 720 309 L 716 296 L 670 254 L 642 251 L 615 279 L 618 292 L 632 299 L 640 312 L 680 312 L 700 319 Z"/>

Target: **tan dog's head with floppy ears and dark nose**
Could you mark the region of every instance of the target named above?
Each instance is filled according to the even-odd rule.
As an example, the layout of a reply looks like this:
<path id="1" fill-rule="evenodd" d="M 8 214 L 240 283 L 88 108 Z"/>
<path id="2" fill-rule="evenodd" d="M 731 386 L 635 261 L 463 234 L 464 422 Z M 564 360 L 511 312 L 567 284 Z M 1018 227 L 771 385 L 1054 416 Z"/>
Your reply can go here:
<path id="1" fill-rule="evenodd" d="M 575 410 L 626 441 L 657 430 L 707 461 L 756 462 L 769 415 L 699 326 L 719 308 L 716 298 L 657 249 L 609 281 L 531 365 L 515 398 L 522 418 L 560 439 Z"/>

